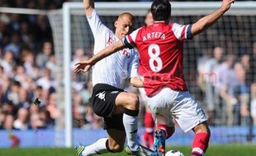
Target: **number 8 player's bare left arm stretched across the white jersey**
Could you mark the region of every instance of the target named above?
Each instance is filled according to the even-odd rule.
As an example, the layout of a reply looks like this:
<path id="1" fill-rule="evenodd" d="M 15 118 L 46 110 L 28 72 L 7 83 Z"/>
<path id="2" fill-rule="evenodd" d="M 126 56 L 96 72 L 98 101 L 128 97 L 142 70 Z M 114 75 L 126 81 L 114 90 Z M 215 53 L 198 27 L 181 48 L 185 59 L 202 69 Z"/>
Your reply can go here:
<path id="1" fill-rule="evenodd" d="M 102 60 L 102 58 L 107 57 L 107 56 L 111 55 L 112 53 L 116 53 L 117 51 L 119 51 L 123 48 L 125 48 L 125 46 L 122 44 L 121 40 L 119 40 L 116 43 L 111 44 L 111 45 L 107 46 L 106 48 L 103 48 L 99 53 L 97 53 L 90 59 L 88 59 L 84 62 L 76 63 L 73 72 L 78 73 L 80 71 L 83 71 L 83 72 L 89 71 L 89 69 L 95 63 Z"/>

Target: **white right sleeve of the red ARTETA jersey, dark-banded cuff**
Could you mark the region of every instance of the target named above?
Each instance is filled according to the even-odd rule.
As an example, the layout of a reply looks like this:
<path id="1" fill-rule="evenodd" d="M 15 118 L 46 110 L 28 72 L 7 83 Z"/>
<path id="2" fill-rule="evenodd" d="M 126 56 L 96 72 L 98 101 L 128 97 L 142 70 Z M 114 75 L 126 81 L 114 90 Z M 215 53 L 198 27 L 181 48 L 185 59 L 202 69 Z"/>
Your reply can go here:
<path id="1" fill-rule="evenodd" d="M 191 33 L 192 25 L 179 25 L 177 23 L 173 23 L 173 34 L 178 40 L 184 39 L 192 39 Z"/>

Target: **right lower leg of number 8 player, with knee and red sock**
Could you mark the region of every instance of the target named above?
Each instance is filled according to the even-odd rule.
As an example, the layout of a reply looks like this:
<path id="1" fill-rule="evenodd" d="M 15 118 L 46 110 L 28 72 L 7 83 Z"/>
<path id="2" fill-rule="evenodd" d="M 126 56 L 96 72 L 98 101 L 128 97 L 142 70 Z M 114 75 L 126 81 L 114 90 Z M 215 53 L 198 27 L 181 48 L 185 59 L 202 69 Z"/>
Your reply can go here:
<path id="1" fill-rule="evenodd" d="M 209 145 L 211 131 L 207 122 L 202 122 L 192 129 L 195 132 L 195 138 L 192 142 L 192 156 L 203 156 Z"/>

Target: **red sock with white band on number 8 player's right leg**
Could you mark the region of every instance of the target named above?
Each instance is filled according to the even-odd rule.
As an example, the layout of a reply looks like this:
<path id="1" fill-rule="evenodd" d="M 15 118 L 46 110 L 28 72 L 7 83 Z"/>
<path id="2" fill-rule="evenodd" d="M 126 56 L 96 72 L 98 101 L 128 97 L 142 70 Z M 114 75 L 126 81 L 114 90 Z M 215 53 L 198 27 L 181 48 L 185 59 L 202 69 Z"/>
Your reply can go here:
<path id="1" fill-rule="evenodd" d="M 206 153 L 210 140 L 210 135 L 208 133 L 197 133 L 195 139 L 192 142 L 192 155 L 203 156 Z"/>

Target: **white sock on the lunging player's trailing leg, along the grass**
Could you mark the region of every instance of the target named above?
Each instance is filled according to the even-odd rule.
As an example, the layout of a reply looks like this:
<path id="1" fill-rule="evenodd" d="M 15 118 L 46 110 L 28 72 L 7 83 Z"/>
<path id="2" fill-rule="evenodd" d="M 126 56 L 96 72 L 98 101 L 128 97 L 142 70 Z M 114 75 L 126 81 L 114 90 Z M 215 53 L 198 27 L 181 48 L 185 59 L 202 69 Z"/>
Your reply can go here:
<path id="1" fill-rule="evenodd" d="M 108 140 L 107 138 L 102 138 L 97 140 L 95 143 L 92 145 L 88 145 L 84 148 L 82 154 L 83 156 L 88 156 L 91 154 L 106 154 L 111 151 L 108 150 L 107 148 L 108 145 Z"/>

